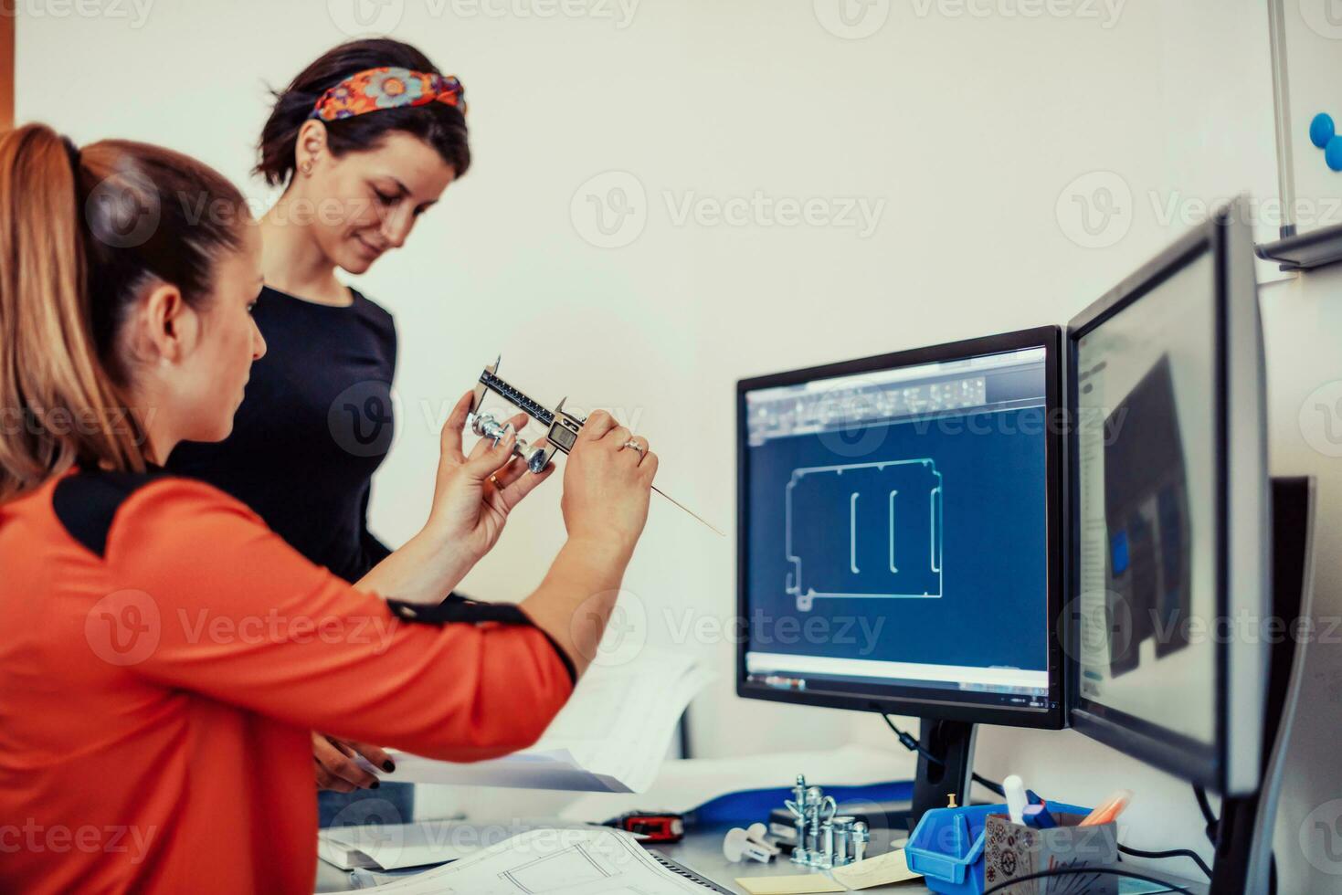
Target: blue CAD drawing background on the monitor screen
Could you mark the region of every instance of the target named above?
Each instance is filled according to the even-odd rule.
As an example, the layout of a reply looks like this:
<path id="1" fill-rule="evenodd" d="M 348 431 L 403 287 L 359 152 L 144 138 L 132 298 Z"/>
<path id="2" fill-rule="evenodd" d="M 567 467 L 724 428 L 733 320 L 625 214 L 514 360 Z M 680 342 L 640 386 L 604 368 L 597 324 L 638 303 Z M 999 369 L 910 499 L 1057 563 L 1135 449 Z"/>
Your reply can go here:
<path id="1" fill-rule="evenodd" d="M 878 437 L 874 432 L 879 432 Z M 1047 651 L 1047 499 L 1045 411 L 1043 407 L 969 412 L 938 420 L 879 424 L 841 436 L 858 451 L 835 451 L 836 435 L 777 437 L 750 450 L 749 499 L 749 649 L 760 652 L 910 662 L 946 666 L 1045 670 Z M 868 445 L 875 445 L 867 451 Z M 847 454 L 847 456 L 845 456 Z M 809 612 L 786 593 L 786 486 L 808 467 L 929 458 L 942 487 L 941 598 L 816 598 Z M 859 526 L 887 525 L 879 501 L 859 501 Z M 847 503 L 827 519 L 851 526 Z M 793 546 L 798 546 L 797 526 Z M 825 535 L 833 539 L 832 535 Z M 840 558 L 847 566 L 847 556 Z M 866 574 L 866 573 L 864 573 Z M 879 574 L 879 569 L 875 574 Z M 803 577 L 807 574 L 804 572 Z M 833 576 L 831 574 L 829 578 Z M 809 586 L 809 585 L 808 585 Z M 819 588 L 817 588 L 819 589 Z M 876 590 L 880 589 L 876 582 Z M 820 639 L 769 636 L 778 619 L 824 616 L 839 631 L 841 620 L 867 617 L 874 629 L 884 616 L 875 647 L 863 649 Z M 859 621 L 860 624 L 860 621 Z M 859 628 L 860 629 L 860 628 Z M 781 631 L 781 629 L 778 629 Z M 793 640 L 786 643 L 786 640 Z"/>

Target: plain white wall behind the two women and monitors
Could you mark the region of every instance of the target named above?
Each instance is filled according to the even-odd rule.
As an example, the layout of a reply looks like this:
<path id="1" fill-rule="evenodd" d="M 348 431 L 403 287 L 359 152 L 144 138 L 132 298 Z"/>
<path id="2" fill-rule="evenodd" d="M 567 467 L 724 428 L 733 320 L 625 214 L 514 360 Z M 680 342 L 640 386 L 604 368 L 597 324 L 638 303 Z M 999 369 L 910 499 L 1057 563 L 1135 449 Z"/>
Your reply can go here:
<path id="1" fill-rule="evenodd" d="M 342 39 L 364 0 L 140 1 L 142 15 L 115 7 L 126 17 L 113 0 L 86 0 L 97 16 L 20 4 L 19 118 L 79 141 L 164 142 L 243 181 L 264 85 Z M 1342 44 L 1306 28 L 1295 5 L 1298 114 L 1334 102 L 1342 119 Z M 403 424 L 373 505 L 381 534 L 401 539 L 423 519 L 436 421 L 498 352 L 505 376 L 539 399 L 615 408 L 662 454 L 659 484 L 731 535 L 737 378 L 1066 322 L 1206 204 L 1275 193 L 1261 1 L 874 0 L 849 12 L 862 9 L 844 24 L 837 0 L 365 8 L 462 76 L 476 153 L 407 250 L 361 280 L 401 337 Z M 1337 184 L 1302 176 L 1314 196 Z M 757 195 L 768 211 L 733 207 L 741 225 L 713 213 Z M 790 223 L 780 201 L 797 204 Z M 796 220 L 808 201 L 812 220 Z M 1257 221 L 1264 236 L 1275 223 L 1270 208 Z M 595 244 L 608 242 L 621 244 Z M 1323 480 L 1321 602 L 1338 612 L 1342 472 L 1307 447 L 1298 419 L 1304 396 L 1342 378 L 1342 280 L 1283 280 L 1270 267 L 1263 278 L 1278 280 L 1264 291 L 1274 464 Z M 515 515 L 468 590 L 517 598 L 535 585 L 562 538 L 557 495 L 556 482 Z M 725 624 L 734 539 L 659 502 L 627 588 L 651 643 L 672 643 L 686 620 Z M 699 754 L 890 745 L 871 715 L 738 700 L 733 647 L 709 640 L 684 644 L 721 672 L 694 707 Z M 1310 868 L 1292 845 L 1306 814 L 1342 794 L 1327 749 L 1338 667 L 1317 666 L 1318 711 L 1279 840 L 1299 884 L 1284 891 L 1342 879 L 1291 876 Z M 984 729 L 978 742 L 984 773 L 1023 773 L 1074 801 L 1135 789 L 1135 845 L 1202 841 L 1186 786 L 1074 733 Z M 907 766 L 894 751 L 891 762 Z"/>

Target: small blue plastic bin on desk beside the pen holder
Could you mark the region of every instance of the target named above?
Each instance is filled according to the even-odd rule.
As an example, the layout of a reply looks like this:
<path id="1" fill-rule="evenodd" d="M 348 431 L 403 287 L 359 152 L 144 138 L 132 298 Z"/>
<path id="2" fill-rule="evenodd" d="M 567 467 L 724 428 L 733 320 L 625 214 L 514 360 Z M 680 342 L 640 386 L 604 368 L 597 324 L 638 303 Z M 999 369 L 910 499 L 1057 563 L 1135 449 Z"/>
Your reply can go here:
<path id="1" fill-rule="evenodd" d="M 1088 814 L 1090 808 L 1048 802 L 1049 812 Z M 984 833 L 989 814 L 1005 814 L 1007 805 L 934 808 L 923 814 L 905 845 L 909 870 L 922 874 L 927 888 L 953 895 L 984 892 Z"/>

